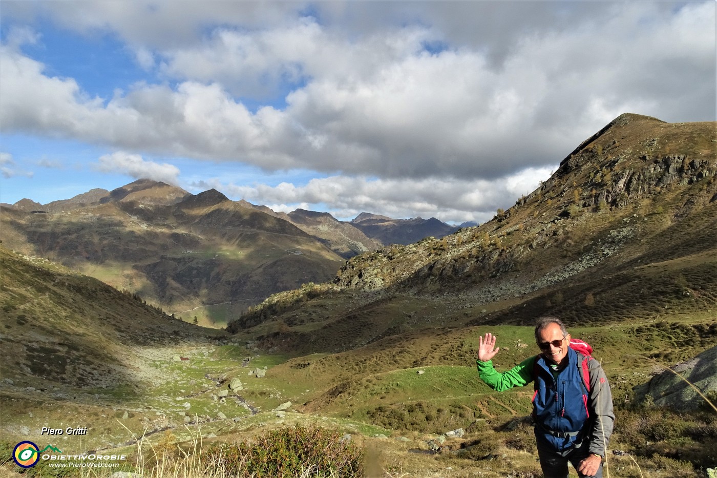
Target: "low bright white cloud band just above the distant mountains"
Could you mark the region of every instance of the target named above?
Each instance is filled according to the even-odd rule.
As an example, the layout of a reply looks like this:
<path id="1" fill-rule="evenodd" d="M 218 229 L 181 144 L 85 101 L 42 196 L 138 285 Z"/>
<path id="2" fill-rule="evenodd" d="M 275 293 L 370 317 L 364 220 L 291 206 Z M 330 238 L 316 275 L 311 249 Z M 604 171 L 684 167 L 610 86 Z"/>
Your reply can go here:
<path id="1" fill-rule="evenodd" d="M 297 208 L 328 210 L 339 218 L 352 218 L 360 212 L 389 217 L 438 217 L 443 221 L 483 222 L 498 207 L 507 209 L 517 197 L 532 192 L 551 173 L 549 168 L 524 169 L 497 181 L 484 179 L 367 179 L 335 176 L 311 179 L 307 184 L 282 182 L 276 186 L 224 184 L 208 179 L 192 184 L 196 189 L 214 188 L 234 200 L 245 199 L 290 212 Z"/>

